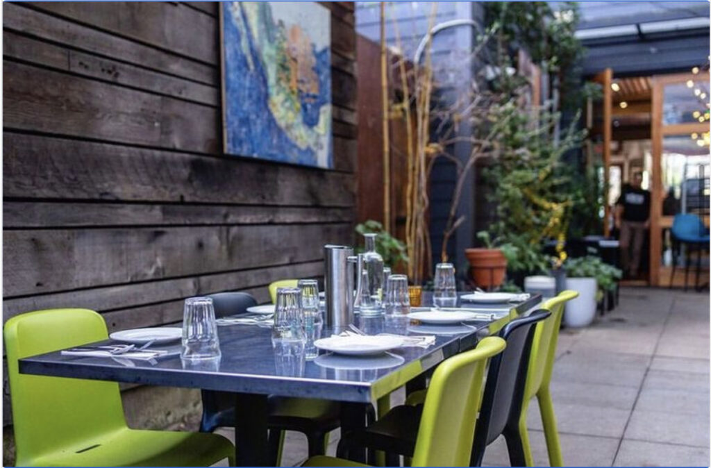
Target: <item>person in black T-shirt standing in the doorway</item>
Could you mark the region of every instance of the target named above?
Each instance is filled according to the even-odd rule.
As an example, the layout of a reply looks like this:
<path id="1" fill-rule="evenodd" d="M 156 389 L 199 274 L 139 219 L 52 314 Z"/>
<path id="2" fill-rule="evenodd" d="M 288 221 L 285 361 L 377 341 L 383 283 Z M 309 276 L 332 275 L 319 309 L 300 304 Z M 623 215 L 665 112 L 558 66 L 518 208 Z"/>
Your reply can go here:
<path id="1" fill-rule="evenodd" d="M 632 175 L 629 185 L 622 189 L 615 210 L 616 225 L 620 230 L 622 268 L 629 277 L 639 274 L 642 246 L 649 228 L 649 191 L 642 188 L 642 173 Z"/>

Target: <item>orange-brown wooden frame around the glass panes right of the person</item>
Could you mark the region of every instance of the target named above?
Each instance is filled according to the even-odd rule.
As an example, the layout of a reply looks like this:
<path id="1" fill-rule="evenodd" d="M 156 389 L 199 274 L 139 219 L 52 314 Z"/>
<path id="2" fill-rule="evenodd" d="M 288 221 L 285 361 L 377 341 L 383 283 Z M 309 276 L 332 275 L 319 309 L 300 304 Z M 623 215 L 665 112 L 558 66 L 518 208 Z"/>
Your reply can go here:
<path id="1" fill-rule="evenodd" d="M 686 83 L 688 80 L 709 81 L 709 73 L 677 73 L 674 75 L 654 75 L 652 77 L 652 186 L 650 223 L 649 223 L 649 284 L 660 286 L 659 269 L 662 255 L 662 150 L 666 135 L 688 135 L 693 132 L 705 133 L 709 125 L 699 122 L 689 124 L 663 125 L 664 87 L 673 83 Z"/>

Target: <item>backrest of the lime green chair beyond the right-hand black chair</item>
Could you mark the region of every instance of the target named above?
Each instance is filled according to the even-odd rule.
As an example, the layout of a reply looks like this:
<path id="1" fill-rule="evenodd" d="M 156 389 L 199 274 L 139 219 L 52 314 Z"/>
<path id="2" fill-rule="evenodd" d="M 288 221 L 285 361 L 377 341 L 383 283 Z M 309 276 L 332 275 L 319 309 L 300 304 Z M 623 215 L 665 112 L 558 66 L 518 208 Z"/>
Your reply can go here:
<path id="1" fill-rule="evenodd" d="M 555 348 L 558 344 L 560 321 L 565 312 L 565 303 L 578 297 L 577 291 L 563 291 L 544 302 L 541 309 L 550 311 L 550 319 L 539 322 L 533 334 L 524 399 L 533 398 L 543 383 L 549 383 L 553 373 Z"/>

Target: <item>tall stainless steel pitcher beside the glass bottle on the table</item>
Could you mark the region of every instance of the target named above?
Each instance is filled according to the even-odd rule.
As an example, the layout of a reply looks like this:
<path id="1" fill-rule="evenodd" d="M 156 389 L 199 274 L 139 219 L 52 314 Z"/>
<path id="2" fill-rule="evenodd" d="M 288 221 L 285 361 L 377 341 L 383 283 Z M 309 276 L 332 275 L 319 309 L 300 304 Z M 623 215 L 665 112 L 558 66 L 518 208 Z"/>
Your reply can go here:
<path id="1" fill-rule="evenodd" d="M 353 323 L 353 265 L 357 259 L 352 247 L 324 245 L 326 326 L 343 328 Z"/>

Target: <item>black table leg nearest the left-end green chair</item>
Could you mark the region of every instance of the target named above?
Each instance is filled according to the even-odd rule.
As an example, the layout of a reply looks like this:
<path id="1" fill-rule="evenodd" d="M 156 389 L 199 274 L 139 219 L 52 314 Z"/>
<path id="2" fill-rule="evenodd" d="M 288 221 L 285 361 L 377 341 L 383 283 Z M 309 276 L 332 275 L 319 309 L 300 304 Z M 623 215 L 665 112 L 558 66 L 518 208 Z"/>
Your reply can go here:
<path id="1" fill-rule="evenodd" d="M 271 466 L 267 418 L 267 395 L 235 394 L 235 459 L 238 467 Z"/>

